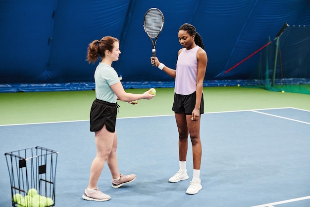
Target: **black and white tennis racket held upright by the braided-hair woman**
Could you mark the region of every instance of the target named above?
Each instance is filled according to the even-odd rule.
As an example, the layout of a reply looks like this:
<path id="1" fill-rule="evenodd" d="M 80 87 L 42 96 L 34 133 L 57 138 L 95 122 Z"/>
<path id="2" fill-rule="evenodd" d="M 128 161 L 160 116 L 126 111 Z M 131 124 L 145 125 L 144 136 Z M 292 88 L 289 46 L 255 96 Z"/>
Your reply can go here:
<path id="1" fill-rule="evenodd" d="M 162 12 L 158 8 L 150 8 L 144 15 L 143 28 L 152 42 L 153 57 L 156 56 L 155 45 L 157 42 L 157 38 L 163 28 L 163 23 L 164 17 Z M 155 66 L 155 64 L 153 66 Z"/>

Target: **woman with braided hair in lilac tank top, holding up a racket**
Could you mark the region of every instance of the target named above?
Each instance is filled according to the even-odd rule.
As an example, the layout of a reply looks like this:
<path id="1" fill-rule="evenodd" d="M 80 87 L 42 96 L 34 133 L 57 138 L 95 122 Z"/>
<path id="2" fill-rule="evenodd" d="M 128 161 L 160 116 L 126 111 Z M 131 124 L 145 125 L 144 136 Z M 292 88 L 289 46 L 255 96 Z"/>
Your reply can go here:
<path id="1" fill-rule="evenodd" d="M 182 49 L 178 52 L 176 69 L 170 69 L 151 57 L 151 64 L 155 63 L 162 71 L 175 78 L 174 102 L 172 110 L 179 132 L 179 170 L 169 182 L 176 183 L 187 180 L 186 156 L 188 135 L 193 148 L 193 179 L 186 190 L 187 194 L 197 194 L 201 189 L 200 165 L 202 144 L 200 139 L 200 118 L 204 113 L 203 82 L 207 69 L 207 53 L 196 28 L 188 23 L 183 24 L 178 31 Z"/>

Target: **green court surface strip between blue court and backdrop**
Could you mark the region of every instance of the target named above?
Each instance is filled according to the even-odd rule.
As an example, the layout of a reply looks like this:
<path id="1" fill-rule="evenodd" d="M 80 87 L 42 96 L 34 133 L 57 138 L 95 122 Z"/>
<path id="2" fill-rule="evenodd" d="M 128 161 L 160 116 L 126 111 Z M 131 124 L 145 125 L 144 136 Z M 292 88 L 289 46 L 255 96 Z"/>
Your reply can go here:
<path id="1" fill-rule="evenodd" d="M 143 93 L 147 89 L 127 89 Z M 171 115 L 173 88 L 156 88 L 152 100 L 118 101 L 118 118 Z M 88 120 L 95 91 L 0 93 L 0 125 Z M 310 110 L 310 95 L 259 88 L 205 87 L 205 112 L 294 107 Z"/>

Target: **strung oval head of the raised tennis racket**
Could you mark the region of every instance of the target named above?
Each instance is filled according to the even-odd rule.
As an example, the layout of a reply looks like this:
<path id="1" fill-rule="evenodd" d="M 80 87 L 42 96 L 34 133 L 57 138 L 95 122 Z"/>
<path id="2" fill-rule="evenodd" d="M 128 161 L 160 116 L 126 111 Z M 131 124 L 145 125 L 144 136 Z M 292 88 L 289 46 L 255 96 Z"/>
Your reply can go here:
<path id="1" fill-rule="evenodd" d="M 143 22 L 145 31 L 151 38 L 157 37 L 163 26 L 163 16 L 160 11 L 149 10 Z"/>

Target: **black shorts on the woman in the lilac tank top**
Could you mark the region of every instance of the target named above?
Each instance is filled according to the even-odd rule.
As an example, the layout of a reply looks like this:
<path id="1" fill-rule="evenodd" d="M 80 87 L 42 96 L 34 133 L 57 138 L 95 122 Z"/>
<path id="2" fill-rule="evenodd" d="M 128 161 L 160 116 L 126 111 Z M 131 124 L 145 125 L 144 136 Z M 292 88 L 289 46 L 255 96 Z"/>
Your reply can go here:
<path id="1" fill-rule="evenodd" d="M 174 101 L 172 111 L 175 113 L 182 113 L 191 115 L 196 104 L 196 91 L 190 95 L 180 95 L 174 93 Z M 204 93 L 200 102 L 200 114 L 205 113 L 204 110 Z"/>

